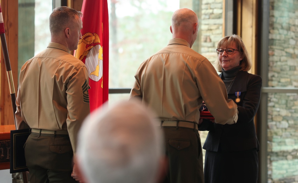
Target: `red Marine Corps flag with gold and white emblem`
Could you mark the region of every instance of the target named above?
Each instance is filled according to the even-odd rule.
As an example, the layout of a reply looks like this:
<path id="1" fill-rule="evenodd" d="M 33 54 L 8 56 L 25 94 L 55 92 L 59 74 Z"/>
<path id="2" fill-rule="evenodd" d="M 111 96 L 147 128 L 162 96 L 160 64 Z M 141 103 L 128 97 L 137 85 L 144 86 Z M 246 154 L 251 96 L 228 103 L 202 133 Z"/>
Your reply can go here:
<path id="1" fill-rule="evenodd" d="M 108 100 L 108 2 L 84 0 L 82 13 L 82 39 L 74 55 L 88 69 L 90 111 L 93 111 Z"/>

